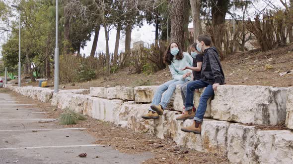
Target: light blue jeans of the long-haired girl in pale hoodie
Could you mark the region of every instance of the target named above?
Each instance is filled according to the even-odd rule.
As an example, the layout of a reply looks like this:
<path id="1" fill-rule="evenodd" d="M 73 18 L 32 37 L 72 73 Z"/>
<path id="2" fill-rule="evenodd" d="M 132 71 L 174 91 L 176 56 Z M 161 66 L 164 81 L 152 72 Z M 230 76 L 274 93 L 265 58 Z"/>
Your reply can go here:
<path id="1" fill-rule="evenodd" d="M 188 82 L 188 80 L 171 80 L 161 84 L 155 91 L 151 105 L 161 105 L 163 109 L 165 109 L 176 89 L 176 85 L 184 84 Z M 165 92 L 164 96 L 162 94 Z M 155 112 L 152 109 L 148 109 L 149 111 Z"/>

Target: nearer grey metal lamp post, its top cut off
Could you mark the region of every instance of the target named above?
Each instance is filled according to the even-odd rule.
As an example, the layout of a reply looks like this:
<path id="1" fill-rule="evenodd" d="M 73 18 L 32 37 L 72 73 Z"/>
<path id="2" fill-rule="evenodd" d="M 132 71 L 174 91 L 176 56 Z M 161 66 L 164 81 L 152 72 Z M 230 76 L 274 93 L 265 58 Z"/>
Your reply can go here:
<path id="1" fill-rule="evenodd" d="M 54 69 L 54 93 L 58 93 L 59 91 L 59 46 L 58 46 L 58 0 L 56 0 L 56 47 L 55 47 L 55 69 Z"/>

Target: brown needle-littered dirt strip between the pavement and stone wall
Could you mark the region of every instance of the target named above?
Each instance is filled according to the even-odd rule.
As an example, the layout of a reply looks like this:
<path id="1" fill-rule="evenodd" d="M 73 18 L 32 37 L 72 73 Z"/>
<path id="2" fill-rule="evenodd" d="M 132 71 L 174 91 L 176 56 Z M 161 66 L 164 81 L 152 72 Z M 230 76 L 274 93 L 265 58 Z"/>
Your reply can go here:
<path id="1" fill-rule="evenodd" d="M 62 110 L 56 109 L 50 103 L 42 103 L 37 100 L 19 95 L 16 92 L 0 88 L 0 92 L 12 95 L 19 103 L 37 104 L 42 112 L 47 113 L 47 118 L 59 118 Z M 56 121 L 58 123 L 58 120 Z M 46 126 L 46 123 L 43 123 Z M 229 164 L 224 155 L 197 152 L 176 146 L 171 139 L 159 139 L 156 136 L 133 132 L 109 122 L 101 122 L 88 118 L 79 121 L 75 125 L 63 125 L 64 127 L 85 127 L 87 132 L 96 138 L 95 144 L 110 145 L 123 153 L 140 154 L 151 153 L 154 158 L 146 160 L 143 164 Z"/>

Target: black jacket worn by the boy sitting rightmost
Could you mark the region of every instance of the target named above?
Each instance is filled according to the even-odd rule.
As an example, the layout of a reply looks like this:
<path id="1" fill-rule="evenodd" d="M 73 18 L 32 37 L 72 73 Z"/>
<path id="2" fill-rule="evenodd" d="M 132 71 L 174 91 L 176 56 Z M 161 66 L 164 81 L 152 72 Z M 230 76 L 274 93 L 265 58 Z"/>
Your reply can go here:
<path id="1" fill-rule="evenodd" d="M 215 47 L 205 49 L 201 80 L 212 85 L 214 83 L 222 85 L 225 82 L 224 72 Z"/>

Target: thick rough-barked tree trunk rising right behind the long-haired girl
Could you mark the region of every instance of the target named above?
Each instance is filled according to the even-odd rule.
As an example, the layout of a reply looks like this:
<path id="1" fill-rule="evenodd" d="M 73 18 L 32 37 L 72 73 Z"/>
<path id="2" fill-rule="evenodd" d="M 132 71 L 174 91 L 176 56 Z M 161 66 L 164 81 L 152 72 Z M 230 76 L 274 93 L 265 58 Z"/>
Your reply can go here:
<path id="1" fill-rule="evenodd" d="M 180 48 L 184 48 L 184 12 L 186 0 L 171 0 L 171 41 L 176 41 Z M 187 24 L 188 26 L 188 24 Z M 183 35 L 182 35 L 183 34 Z"/>

